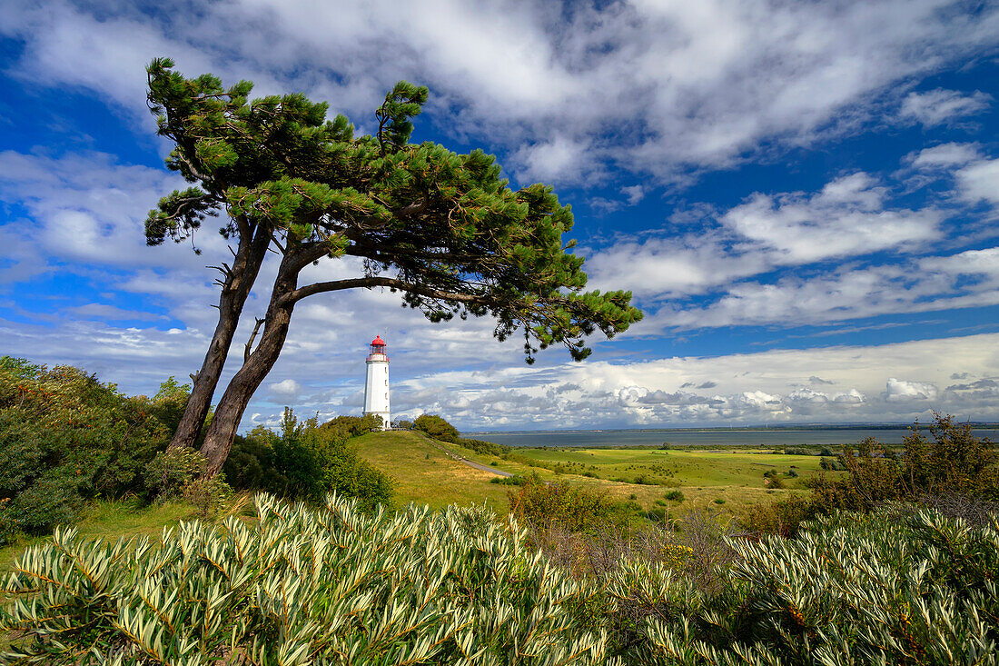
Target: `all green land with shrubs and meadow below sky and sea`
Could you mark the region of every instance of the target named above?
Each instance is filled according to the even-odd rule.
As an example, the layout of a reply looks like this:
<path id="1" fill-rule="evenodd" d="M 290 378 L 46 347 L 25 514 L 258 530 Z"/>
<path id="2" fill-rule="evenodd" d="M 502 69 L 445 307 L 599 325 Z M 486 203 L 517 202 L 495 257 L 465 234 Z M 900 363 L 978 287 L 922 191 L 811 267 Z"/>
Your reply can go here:
<path id="1" fill-rule="evenodd" d="M 999 460 L 949 416 L 897 447 L 514 451 L 286 409 L 211 476 L 166 450 L 186 394 L 0 359 L 0 662 L 999 663 Z"/>

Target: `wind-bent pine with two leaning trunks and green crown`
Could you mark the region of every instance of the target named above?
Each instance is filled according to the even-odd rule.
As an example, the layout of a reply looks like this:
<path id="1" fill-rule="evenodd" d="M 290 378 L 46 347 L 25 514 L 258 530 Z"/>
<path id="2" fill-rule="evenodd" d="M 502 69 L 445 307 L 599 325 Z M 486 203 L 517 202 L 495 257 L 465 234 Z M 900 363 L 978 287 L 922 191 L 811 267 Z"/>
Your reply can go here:
<path id="1" fill-rule="evenodd" d="M 217 77 L 186 79 L 172 68 L 167 59 L 150 64 L 150 107 L 176 145 L 168 165 L 196 185 L 160 201 L 147 240 L 189 239 L 206 215 L 224 211 L 221 232 L 237 245 L 233 265 L 219 267 L 219 329 L 202 370 L 211 377 L 195 375 L 173 445 L 194 441 L 260 261 L 270 247 L 281 255 L 266 315 L 202 447 L 209 474 L 225 461 L 304 298 L 385 287 L 432 322 L 491 315 L 500 340 L 524 336 L 528 362 L 552 344 L 581 360 L 586 336 L 610 337 L 640 319 L 629 292 L 582 291 L 583 260 L 562 242 L 572 215 L 550 187 L 514 191 L 481 150 L 409 142 L 427 88 L 396 84 L 376 112 L 378 131 L 356 138 L 345 116 L 326 120 L 327 105 L 304 95 L 249 102 L 249 82 L 225 89 Z M 299 284 L 307 266 L 344 256 L 363 260 L 357 277 Z"/>

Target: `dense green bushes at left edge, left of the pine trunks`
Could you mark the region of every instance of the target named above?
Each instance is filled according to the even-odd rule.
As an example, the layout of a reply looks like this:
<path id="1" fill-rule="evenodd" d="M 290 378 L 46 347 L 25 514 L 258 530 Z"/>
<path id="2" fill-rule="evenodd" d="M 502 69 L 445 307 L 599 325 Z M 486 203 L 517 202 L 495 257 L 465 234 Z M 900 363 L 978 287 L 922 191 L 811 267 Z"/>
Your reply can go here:
<path id="1" fill-rule="evenodd" d="M 0 357 L 0 542 L 71 523 L 95 497 L 145 494 L 184 408 L 176 388 L 129 397 L 78 368 Z"/>

